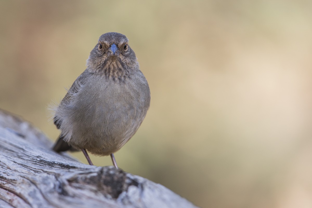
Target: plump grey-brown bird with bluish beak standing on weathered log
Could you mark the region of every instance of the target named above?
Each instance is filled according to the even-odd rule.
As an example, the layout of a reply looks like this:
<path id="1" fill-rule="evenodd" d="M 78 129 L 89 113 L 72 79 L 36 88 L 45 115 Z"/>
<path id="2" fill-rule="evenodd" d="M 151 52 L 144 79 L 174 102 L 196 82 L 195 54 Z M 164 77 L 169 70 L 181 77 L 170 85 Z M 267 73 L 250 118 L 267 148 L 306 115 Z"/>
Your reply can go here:
<path id="1" fill-rule="evenodd" d="M 128 38 L 117 32 L 100 36 L 86 61 L 86 69 L 53 109 L 53 123 L 61 133 L 53 150 L 81 150 L 110 155 L 134 135 L 150 105 L 148 82 L 140 71 Z"/>

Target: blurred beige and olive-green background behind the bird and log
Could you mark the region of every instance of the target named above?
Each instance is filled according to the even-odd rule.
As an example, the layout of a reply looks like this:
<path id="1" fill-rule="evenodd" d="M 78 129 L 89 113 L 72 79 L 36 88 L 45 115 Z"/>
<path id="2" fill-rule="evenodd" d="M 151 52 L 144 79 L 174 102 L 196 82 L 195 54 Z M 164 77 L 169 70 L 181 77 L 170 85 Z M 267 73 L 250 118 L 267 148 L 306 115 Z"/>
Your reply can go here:
<path id="1" fill-rule="evenodd" d="M 120 32 L 152 100 L 115 154 L 119 167 L 201 207 L 312 207 L 311 6 L 2 0 L 0 108 L 55 140 L 46 106 L 85 70 L 100 35 Z"/>

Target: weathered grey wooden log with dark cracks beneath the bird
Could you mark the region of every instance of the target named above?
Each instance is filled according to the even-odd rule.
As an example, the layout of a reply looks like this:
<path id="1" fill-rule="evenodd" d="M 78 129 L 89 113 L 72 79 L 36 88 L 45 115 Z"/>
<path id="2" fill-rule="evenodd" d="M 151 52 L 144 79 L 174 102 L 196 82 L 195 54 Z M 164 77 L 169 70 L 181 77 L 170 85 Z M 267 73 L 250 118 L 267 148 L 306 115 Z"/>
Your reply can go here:
<path id="1" fill-rule="evenodd" d="M 160 184 L 51 147 L 28 122 L 0 110 L 0 207 L 196 207 Z"/>

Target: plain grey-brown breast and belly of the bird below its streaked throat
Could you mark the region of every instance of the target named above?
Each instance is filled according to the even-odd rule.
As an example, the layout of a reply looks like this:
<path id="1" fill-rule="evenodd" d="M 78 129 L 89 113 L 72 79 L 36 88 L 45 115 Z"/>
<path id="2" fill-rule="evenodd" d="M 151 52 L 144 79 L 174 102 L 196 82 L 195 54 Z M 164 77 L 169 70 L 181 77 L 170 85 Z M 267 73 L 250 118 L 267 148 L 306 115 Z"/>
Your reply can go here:
<path id="1" fill-rule="evenodd" d="M 100 155 L 121 148 L 149 108 L 149 87 L 143 78 L 118 83 L 95 77 L 83 83 L 72 99 L 70 112 L 66 112 L 67 126 L 71 127 L 69 142 Z"/>

